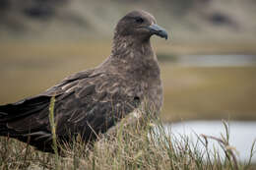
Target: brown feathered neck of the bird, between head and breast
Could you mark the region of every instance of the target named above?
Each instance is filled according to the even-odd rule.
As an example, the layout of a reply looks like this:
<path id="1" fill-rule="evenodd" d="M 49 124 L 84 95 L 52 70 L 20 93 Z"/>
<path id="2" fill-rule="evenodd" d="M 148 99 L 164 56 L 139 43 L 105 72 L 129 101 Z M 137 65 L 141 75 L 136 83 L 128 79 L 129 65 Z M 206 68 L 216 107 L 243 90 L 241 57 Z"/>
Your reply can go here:
<path id="1" fill-rule="evenodd" d="M 158 59 L 150 38 L 140 41 L 138 38 L 115 36 L 107 63 L 111 66 L 109 68 L 118 68 L 119 72 L 160 77 Z"/>

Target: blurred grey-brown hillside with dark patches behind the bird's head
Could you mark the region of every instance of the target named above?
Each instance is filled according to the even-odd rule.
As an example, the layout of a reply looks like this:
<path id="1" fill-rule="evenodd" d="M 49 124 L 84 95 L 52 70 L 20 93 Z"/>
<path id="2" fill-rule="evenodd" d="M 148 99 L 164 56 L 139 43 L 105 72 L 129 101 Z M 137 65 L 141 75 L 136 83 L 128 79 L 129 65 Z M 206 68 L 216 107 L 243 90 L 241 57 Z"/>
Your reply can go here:
<path id="1" fill-rule="evenodd" d="M 176 41 L 254 41 L 254 0 L 2 0 L 2 39 L 109 38 L 116 22 L 144 9 Z"/>

